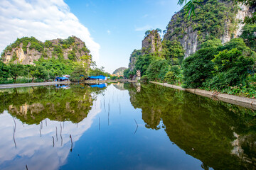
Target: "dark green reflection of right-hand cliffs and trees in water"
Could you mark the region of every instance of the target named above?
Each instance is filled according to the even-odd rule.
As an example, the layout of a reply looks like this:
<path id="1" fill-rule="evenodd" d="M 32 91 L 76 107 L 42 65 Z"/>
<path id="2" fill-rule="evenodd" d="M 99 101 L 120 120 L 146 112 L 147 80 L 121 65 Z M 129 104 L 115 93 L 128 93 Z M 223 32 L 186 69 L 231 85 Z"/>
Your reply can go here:
<path id="1" fill-rule="evenodd" d="M 158 130 L 162 120 L 170 140 L 200 159 L 203 169 L 255 169 L 256 120 L 250 109 L 154 84 L 142 85 L 139 93 L 132 85 L 125 88 L 134 108 L 142 108 L 146 128 Z"/>

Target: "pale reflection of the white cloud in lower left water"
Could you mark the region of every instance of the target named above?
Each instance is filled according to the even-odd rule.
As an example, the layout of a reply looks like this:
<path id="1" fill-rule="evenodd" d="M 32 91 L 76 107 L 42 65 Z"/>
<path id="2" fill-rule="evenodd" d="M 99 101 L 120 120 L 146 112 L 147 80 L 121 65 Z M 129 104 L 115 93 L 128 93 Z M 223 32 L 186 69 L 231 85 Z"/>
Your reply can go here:
<path id="1" fill-rule="evenodd" d="M 100 101 L 93 103 L 100 105 Z M 60 169 L 67 162 L 68 155 L 74 152 L 70 152 L 70 135 L 75 150 L 75 143 L 90 129 L 97 113 L 100 113 L 100 108 L 92 107 L 87 118 L 80 123 L 45 119 L 38 125 L 23 125 L 16 119 L 14 124 L 14 118 L 4 111 L 0 115 L 0 145 L 6 147 L 0 147 L 0 169 L 24 169 L 26 164 L 28 169 Z M 10 125 L 15 125 L 15 134 Z"/>

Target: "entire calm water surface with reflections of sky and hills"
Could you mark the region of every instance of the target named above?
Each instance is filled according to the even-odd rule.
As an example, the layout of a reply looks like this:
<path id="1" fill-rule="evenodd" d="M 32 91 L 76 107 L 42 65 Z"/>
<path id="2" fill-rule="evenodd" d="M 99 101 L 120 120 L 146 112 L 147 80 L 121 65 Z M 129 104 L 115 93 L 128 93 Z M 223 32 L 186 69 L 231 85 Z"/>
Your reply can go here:
<path id="1" fill-rule="evenodd" d="M 0 169 L 256 169 L 254 111 L 155 84 L 0 91 Z"/>

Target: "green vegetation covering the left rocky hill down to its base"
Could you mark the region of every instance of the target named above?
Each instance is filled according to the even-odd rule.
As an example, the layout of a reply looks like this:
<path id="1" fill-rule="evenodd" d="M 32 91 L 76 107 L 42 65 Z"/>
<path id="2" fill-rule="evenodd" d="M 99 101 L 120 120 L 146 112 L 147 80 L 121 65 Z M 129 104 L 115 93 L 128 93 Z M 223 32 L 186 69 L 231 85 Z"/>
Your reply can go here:
<path id="1" fill-rule="evenodd" d="M 34 50 L 34 53 L 40 55 L 40 58 L 33 60 L 33 64 L 20 64 L 23 61 L 19 59 L 16 51 L 20 47 L 24 56 L 27 55 L 28 50 Z M 66 58 L 65 52 L 68 52 Z M 11 60 L 7 60 L 10 54 L 14 55 L 11 56 Z M 31 55 L 31 51 L 29 55 Z M 71 80 L 79 81 L 81 74 L 85 77 L 88 76 L 91 62 L 90 50 L 87 49 L 84 42 L 75 37 L 65 40 L 46 40 L 46 42 L 40 42 L 33 37 L 17 38 L 1 54 L 0 84 L 47 81 L 55 77 L 62 77 L 64 74 L 70 74 Z M 23 78 L 17 81 L 18 77 Z"/>

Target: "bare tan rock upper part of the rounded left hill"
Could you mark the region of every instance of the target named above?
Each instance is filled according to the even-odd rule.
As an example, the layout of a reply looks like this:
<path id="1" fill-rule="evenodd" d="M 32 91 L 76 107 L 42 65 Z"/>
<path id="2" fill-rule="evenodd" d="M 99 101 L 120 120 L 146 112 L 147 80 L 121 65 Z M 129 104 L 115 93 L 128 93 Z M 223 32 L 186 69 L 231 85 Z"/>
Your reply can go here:
<path id="1" fill-rule="evenodd" d="M 65 60 L 80 61 L 83 55 L 90 55 L 90 50 L 85 46 L 85 42 L 75 36 L 65 40 L 55 39 L 46 42 L 40 42 L 31 37 L 17 39 L 16 42 L 7 46 L 1 54 L 1 60 L 6 64 L 9 62 L 33 64 L 41 57 L 44 59 L 63 57 Z"/>

